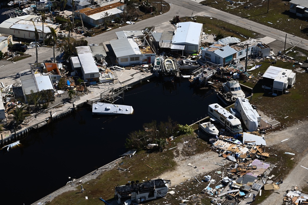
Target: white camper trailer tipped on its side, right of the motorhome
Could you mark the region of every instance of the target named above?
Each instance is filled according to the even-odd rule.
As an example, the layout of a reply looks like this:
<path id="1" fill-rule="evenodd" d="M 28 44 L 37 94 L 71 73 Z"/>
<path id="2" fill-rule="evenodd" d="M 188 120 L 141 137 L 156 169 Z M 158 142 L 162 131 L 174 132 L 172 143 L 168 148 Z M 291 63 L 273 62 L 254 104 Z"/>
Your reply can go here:
<path id="1" fill-rule="evenodd" d="M 260 126 L 261 117 L 257 110 L 253 109 L 253 106 L 249 103 L 249 100 L 238 97 L 234 106 L 236 111 L 240 113 L 246 128 L 250 132 L 256 131 Z"/>

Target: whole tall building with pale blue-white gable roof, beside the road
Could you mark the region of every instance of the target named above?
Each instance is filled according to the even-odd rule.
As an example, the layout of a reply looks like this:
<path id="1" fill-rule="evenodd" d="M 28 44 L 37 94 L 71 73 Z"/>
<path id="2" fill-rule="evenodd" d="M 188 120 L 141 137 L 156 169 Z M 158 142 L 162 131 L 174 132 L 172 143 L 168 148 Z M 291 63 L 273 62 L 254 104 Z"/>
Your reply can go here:
<path id="1" fill-rule="evenodd" d="M 203 24 L 195 22 L 177 23 L 172 44 L 184 45 L 185 52 L 197 53 L 201 43 Z"/>

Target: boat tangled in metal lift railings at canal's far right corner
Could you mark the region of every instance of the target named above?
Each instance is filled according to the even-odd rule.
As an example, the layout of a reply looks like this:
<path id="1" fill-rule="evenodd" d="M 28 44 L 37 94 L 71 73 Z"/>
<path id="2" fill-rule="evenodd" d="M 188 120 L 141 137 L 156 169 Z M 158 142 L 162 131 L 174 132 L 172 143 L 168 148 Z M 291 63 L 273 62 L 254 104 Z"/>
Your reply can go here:
<path id="1" fill-rule="evenodd" d="M 196 84 L 204 84 L 209 78 L 215 75 L 220 68 L 214 68 L 212 66 L 201 66 L 200 68 L 193 71 L 191 74 L 194 76 L 194 82 Z"/>

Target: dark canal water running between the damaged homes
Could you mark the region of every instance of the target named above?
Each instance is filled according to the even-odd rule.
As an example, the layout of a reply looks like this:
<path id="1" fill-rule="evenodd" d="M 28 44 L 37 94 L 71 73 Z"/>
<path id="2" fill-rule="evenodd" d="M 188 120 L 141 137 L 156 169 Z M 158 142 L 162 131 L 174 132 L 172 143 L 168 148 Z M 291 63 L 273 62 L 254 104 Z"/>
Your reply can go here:
<path id="1" fill-rule="evenodd" d="M 90 109 L 78 109 L 31 134 L 21 147 L 1 150 L 1 203 L 34 203 L 64 186 L 68 177 L 79 178 L 119 158 L 128 134 L 144 123 L 170 116 L 190 125 L 206 117 L 208 104 L 219 102 L 215 93 L 206 97 L 207 90 L 191 88 L 187 79 L 164 80 L 154 78 L 125 92 L 124 104 L 133 106 L 133 115 L 92 118 Z"/>

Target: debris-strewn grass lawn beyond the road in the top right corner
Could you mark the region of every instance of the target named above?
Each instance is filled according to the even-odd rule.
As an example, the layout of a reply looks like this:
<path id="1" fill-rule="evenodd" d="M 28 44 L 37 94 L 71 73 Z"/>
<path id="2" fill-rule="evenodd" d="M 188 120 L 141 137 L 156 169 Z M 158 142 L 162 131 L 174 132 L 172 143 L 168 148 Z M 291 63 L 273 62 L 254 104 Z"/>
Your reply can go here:
<path id="1" fill-rule="evenodd" d="M 217 2 L 217 3 L 216 3 Z M 280 31 L 296 35 L 303 39 L 308 39 L 306 18 L 301 18 L 291 13 L 290 3 L 288 1 L 270 0 L 269 12 L 267 13 L 267 1 L 240 1 L 244 4 L 233 3 L 224 0 L 206 0 L 200 2 L 203 5 L 210 6 L 242 18 L 273 27 Z M 253 5 L 252 5 L 253 4 Z M 248 7 L 246 7 L 248 6 Z M 246 8 L 245 8 L 246 7 Z M 268 23 L 270 22 L 270 23 Z"/>

